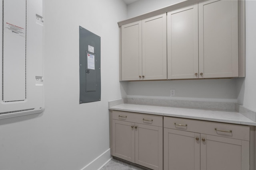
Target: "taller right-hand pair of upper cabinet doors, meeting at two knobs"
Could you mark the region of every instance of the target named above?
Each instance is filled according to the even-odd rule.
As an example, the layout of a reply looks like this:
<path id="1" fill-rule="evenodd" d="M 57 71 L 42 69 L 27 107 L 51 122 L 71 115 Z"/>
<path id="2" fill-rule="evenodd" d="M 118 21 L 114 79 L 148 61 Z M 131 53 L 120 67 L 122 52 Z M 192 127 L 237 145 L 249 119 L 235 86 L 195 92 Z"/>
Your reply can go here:
<path id="1" fill-rule="evenodd" d="M 168 12 L 168 79 L 238 77 L 238 1 Z"/>

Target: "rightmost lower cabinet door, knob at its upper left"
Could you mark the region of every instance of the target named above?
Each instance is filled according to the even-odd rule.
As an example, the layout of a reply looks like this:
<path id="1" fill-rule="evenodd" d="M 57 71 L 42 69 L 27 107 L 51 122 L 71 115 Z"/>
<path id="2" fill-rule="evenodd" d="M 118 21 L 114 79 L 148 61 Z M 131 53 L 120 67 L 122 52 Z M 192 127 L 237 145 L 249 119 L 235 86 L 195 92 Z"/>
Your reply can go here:
<path id="1" fill-rule="evenodd" d="M 249 141 L 201 134 L 201 170 L 249 170 L 249 155 Z"/>

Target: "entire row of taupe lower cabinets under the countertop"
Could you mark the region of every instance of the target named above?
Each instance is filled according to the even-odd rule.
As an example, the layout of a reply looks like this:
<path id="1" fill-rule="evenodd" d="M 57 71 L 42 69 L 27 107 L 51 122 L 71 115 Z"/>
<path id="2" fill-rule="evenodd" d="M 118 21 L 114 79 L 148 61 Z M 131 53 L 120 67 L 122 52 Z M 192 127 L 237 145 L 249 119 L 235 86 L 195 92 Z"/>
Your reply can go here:
<path id="1" fill-rule="evenodd" d="M 152 170 L 253 170 L 249 126 L 110 113 L 111 153 L 118 158 Z"/>

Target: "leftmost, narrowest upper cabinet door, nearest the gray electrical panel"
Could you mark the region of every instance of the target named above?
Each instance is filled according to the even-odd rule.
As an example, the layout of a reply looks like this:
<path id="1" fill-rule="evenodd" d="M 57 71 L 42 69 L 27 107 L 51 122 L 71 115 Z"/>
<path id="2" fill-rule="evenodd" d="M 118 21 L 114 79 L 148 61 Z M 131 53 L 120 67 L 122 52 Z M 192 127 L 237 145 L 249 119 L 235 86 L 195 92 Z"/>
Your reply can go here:
<path id="1" fill-rule="evenodd" d="M 122 25 L 122 80 L 142 80 L 141 21 Z"/>

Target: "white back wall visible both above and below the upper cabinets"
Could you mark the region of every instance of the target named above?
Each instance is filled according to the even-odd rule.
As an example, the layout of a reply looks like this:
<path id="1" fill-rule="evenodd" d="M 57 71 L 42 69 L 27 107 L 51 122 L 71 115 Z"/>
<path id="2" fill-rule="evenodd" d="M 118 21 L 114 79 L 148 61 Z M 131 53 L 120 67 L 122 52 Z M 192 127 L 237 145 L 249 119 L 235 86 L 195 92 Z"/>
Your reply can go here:
<path id="1" fill-rule="evenodd" d="M 164 8 L 183 0 L 138 0 L 128 5 L 128 18 Z M 128 82 L 128 97 L 237 102 L 236 79 Z M 170 96 L 175 89 L 175 96 Z"/>

